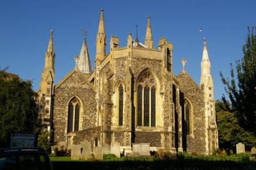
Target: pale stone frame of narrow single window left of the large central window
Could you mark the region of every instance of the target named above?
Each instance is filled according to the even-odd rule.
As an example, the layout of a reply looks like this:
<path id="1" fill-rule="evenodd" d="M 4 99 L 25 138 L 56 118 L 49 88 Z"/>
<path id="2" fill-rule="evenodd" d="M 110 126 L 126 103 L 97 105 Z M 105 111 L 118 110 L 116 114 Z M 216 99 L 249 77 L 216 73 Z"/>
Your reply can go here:
<path id="1" fill-rule="evenodd" d="M 123 87 L 123 125 L 119 125 L 119 87 L 120 85 L 122 85 Z M 116 127 L 124 127 L 124 120 L 125 120 L 125 83 L 122 81 L 118 81 L 116 82 L 116 86 L 115 86 L 115 94 L 116 94 L 116 119 L 115 119 L 115 124 Z"/>

